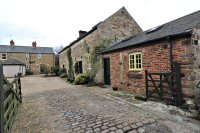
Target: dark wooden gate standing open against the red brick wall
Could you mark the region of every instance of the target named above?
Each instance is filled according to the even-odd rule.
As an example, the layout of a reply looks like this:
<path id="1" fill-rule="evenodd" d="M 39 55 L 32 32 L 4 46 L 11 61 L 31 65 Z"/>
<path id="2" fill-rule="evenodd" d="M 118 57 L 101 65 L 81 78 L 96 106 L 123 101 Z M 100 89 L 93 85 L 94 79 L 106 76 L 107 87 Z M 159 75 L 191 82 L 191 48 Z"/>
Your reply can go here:
<path id="1" fill-rule="evenodd" d="M 173 72 L 149 73 L 145 70 L 146 98 L 165 101 L 167 104 L 180 106 L 183 103 L 180 65 L 174 64 Z"/>

